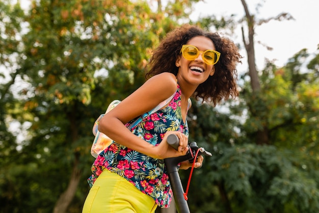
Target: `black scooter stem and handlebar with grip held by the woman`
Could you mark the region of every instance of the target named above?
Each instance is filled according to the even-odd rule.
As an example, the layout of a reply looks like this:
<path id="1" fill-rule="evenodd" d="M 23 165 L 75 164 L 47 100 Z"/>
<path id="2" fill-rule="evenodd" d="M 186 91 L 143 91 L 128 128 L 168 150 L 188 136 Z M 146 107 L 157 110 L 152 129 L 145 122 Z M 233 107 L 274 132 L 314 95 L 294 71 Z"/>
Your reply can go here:
<path id="1" fill-rule="evenodd" d="M 178 149 L 179 146 L 179 139 L 176 135 L 170 134 L 167 137 L 167 143 L 172 146 L 174 149 Z M 184 199 L 183 196 L 183 187 L 178 175 L 177 165 L 178 163 L 189 160 L 190 162 L 194 162 L 196 153 L 197 157 L 199 155 L 207 155 L 211 156 L 210 152 L 205 151 L 204 148 L 198 148 L 195 141 L 188 144 L 189 151 L 184 156 L 179 157 L 171 157 L 171 158 L 165 158 L 164 163 L 166 166 L 166 170 L 169 176 L 169 180 L 171 182 L 172 191 L 176 203 L 176 209 L 178 213 L 190 213 L 190 209 L 187 203 L 187 200 Z"/>

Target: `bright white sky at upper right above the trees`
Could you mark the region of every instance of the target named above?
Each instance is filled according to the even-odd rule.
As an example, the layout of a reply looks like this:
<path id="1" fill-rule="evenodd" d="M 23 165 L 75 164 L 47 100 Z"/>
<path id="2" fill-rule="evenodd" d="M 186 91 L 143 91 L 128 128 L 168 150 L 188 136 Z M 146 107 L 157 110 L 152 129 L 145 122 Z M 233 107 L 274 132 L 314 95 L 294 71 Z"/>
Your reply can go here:
<path id="1" fill-rule="evenodd" d="M 250 14 L 255 14 L 257 19 L 275 17 L 282 12 L 290 13 L 295 20 L 276 21 L 272 20 L 255 28 L 255 54 L 258 69 L 264 67 L 264 59 L 276 59 L 277 66 L 283 66 L 287 60 L 297 52 L 306 48 L 308 53 L 317 53 L 319 44 L 319 1 L 317 0 L 246 0 Z M 262 4 L 256 11 L 256 5 Z M 241 0 L 205 0 L 205 3 L 198 3 L 191 18 L 202 17 L 205 14 L 214 14 L 218 18 L 221 15 L 230 16 L 235 14 L 239 20 L 245 14 Z M 246 26 L 244 26 L 245 28 Z M 236 30 L 236 37 L 231 39 L 236 43 L 242 42 L 241 25 Z M 246 34 L 247 35 L 247 34 Z M 271 46 L 268 51 L 257 41 Z M 241 51 L 245 56 L 243 64 L 238 66 L 238 71 L 247 70 L 246 52 Z"/>

